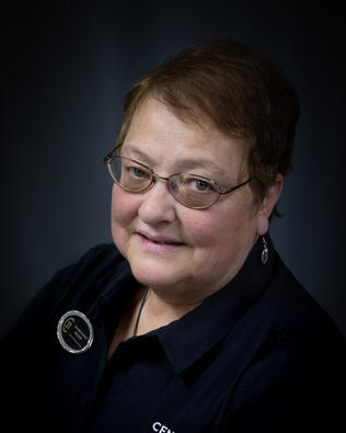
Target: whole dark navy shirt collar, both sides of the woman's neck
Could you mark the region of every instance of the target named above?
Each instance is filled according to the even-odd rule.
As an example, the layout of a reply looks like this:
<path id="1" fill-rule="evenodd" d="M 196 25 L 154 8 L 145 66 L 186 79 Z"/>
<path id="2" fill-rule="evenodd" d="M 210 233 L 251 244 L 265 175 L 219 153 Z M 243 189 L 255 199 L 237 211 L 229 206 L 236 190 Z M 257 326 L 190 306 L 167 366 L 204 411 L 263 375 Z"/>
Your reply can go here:
<path id="1" fill-rule="evenodd" d="M 196 363 L 220 342 L 237 324 L 239 319 L 261 296 L 267 287 L 277 253 L 270 237 L 266 236 L 268 261 L 262 264 L 262 237 L 249 253 L 242 269 L 223 288 L 207 297 L 201 305 L 189 311 L 181 319 L 149 332 L 129 339 L 135 343 L 142 340 L 159 340 L 165 356 L 176 374 Z M 135 295 L 138 282 L 131 274 L 129 263 L 124 259 L 97 284 L 100 296 L 93 310 L 94 318 L 106 321 L 111 315 L 112 321 L 119 319 L 125 304 Z"/>

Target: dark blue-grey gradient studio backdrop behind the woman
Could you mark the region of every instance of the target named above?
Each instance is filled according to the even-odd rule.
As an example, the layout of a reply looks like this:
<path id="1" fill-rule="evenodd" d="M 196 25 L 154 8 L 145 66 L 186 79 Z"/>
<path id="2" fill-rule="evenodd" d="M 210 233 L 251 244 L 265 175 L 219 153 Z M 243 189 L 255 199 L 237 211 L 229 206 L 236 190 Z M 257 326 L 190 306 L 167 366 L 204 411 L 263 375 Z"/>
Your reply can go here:
<path id="1" fill-rule="evenodd" d="M 279 202 L 285 216 L 270 231 L 346 334 L 346 38 L 337 3 L 57 1 L 2 9 L 1 335 L 55 272 L 111 241 L 112 182 L 102 159 L 114 147 L 131 83 L 186 44 L 222 35 L 263 50 L 299 92 L 295 170 Z"/>

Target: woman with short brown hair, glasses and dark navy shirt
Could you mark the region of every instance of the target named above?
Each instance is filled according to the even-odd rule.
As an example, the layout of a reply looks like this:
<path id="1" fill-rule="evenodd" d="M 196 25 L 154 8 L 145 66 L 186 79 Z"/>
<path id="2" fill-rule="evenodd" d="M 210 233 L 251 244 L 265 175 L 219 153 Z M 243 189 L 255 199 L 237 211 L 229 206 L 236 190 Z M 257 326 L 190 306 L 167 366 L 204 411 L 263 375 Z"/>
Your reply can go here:
<path id="1" fill-rule="evenodd" d="M 12 419 L 35 431 L 286 432 L 338 426 L 345 341 L 268 236 L 299 103 L 229 39 L 129 91 L 115 246 L 58 273 L 3 343 Z"/>

